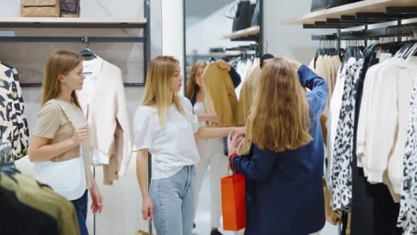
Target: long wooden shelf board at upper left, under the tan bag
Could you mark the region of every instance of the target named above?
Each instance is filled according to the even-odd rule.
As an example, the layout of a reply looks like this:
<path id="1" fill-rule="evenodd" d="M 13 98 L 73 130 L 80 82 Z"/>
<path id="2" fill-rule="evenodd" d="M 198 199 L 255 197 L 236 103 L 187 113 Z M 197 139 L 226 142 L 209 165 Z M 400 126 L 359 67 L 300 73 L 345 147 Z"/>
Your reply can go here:
<path id="1" fill-rule="evenodd" d="M 141 28 L 145 18 L 0 17 L 0 27 Z"/>

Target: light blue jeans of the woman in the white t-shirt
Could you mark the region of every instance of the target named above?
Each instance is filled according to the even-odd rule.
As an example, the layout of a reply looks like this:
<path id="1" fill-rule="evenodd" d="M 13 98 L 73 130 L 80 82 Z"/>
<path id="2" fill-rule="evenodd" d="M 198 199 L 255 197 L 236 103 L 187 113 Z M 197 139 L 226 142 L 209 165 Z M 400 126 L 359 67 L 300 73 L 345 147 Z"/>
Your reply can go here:
<path id="1" fill-rule="evenodd" d="M 176 175 L 151 181 L 154 226 L 158 235 L 191 235 L 195 213 L 195 169 L 184 166 Z"/>

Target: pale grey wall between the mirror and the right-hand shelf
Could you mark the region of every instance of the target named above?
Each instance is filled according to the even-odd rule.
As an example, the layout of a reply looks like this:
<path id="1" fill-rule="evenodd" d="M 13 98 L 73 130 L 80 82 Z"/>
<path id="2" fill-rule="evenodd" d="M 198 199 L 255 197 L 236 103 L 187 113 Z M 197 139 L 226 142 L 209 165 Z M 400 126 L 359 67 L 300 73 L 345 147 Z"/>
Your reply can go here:
<path id="1" fill-rule="evenodd" d="M 335 30 L 308 30 L 302 25 L 282 25 L 282 21 L 310 12 L 311 0 L 263 0 L 264 53 L 295 58 L 308 64 L 318 48 L 311 34 L 331 34 Z"/>

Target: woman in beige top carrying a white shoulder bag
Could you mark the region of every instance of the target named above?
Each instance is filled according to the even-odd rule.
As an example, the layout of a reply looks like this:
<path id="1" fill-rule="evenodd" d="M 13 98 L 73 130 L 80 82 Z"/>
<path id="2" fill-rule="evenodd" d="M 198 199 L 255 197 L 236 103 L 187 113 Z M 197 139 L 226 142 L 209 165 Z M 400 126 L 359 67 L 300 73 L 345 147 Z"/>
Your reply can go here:
<path id="1" fill-rule="evenodd" d="M 29 145 L 34 177 L 75 206 L 80 234 L 88 234 L 86 212 L 90 189 L 93 213 L 102 212 L 103 198 L 89 168 L 88 124 L 75 91 L 84 80 L 82 57 L 56 50 L 43 78 L 42 107 Z"/>

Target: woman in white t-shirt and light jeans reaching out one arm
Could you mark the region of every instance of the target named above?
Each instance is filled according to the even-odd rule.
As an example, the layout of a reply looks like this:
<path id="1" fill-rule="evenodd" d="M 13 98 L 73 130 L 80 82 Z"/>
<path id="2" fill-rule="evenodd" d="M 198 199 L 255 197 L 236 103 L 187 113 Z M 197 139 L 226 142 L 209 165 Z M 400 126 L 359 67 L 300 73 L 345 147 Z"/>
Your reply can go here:
<path id="1" fill-rule="evenodd" d="M 143 104 L 134 115 L 136 171 L 143 219 L 154 217 L 158 235 L 191 235 L 195 214 L 195 169 L 200 161 L 195 138 L 219 138 L 243 128 L 199 128 L 182 87 L 178 60 L 158 56 L 147 71 Z M 147 192 L 147 156 L 152 178 Z"/>

